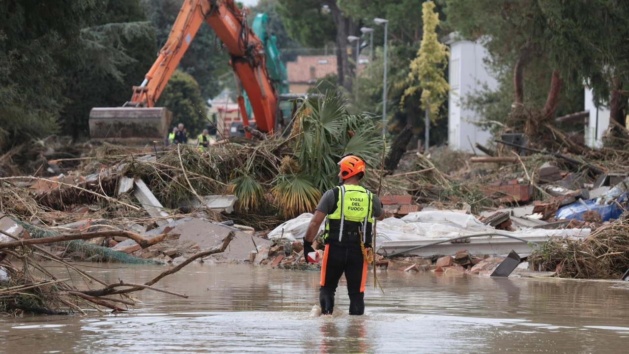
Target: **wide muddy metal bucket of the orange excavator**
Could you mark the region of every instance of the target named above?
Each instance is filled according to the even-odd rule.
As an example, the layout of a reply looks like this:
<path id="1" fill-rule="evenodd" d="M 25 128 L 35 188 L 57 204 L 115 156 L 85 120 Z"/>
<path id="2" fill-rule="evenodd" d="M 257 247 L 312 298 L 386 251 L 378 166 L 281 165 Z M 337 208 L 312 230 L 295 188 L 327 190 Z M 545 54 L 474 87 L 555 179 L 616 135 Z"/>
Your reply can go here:
<path id="1" fill-rule="evenodd" d="M 164 142 L 169 133 L 172 113 L 160 108 L 92 108 L 89 135 L 92 141 L 145 145 Z"/>

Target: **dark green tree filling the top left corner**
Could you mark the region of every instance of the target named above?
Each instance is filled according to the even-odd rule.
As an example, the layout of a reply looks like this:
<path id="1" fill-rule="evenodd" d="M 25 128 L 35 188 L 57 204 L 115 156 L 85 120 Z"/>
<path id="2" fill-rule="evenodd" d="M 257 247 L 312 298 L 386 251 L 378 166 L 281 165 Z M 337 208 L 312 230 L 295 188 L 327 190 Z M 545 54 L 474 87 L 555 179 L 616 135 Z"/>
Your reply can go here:
<path id="1" fill-rule="evenodd" d="M 81 47 L 97 1 L 7 0 L 0 3 L 0 145 L 57 130 L 67 99 L 60 72 Z"/>

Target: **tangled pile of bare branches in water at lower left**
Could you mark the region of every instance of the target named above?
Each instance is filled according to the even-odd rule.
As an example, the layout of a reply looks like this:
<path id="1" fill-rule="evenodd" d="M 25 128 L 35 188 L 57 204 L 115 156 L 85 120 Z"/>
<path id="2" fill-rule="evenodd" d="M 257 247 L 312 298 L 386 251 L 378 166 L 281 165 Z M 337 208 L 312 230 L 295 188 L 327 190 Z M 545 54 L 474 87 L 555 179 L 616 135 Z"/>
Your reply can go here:
<path id="1" fill-rule="evenodd" d="M 13 316 L 19 316 L 24 312 L 39 314 L 80 312 L 86 314 L 84 309 L 88 307 L 93 307 L 99 311 L 103 311 L 104 308 L 111 309 L 113 312 L 124 312 L 137 302 L 136 298 L 130 294 L 145 289 L 187 297 L 185 294 L 163 290 L 153 287 L 153 285 L 159 282 L 161 278 L 176 273 L 194 260 L 225 251 L 235 236 L 234 232 L 230 232 L 218 246 L 194 254 L 178 266 L 163 271 L 146 283 L 126 283 L 123 280 L 116 283 L 106 283 L 89 272 L 81 270 L 81 265 L 73 265 L 38 245 L 79 239 L 91 240 L 115 234 L 117 235 L 115 237 L 133 240 L 139 248 L 148 248 L 163 240 L 177 239 L 179 235 L 160 234 L 149 239 L 133 232 L 97 231 L 33 238 L 19 224 L 5 215 L 2 215 L 0 222 L 3 226 L 3 229 L 0 230 L 0 312 L 12 313 Z M 47 266 L 40 263 L 42 260 L 62 265 L 72 274 L 67 279 L 58 279 L 47 269 Z M 75 285 L 76 283 L 72 282 L 72 276 L 84 280 L 82 285 Z"/>

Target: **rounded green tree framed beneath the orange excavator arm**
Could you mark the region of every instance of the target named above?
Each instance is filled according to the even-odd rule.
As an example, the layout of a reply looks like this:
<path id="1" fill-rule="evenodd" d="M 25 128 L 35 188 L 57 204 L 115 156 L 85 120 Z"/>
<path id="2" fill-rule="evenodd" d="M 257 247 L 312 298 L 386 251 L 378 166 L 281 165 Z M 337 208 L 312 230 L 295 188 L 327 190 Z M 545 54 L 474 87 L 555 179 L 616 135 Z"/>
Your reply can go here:
<path id="1" fill-rule="evenodd" d="M 157 101 L 172 112 L 174 125 L 184 123 L 189 134 L 199 134 L 206 123 L 199 111 L 206 111 L 205 100 L 201 97 L 199 84 L 187 72 L 175 70 L 170 76 L 164 93 Z"/>

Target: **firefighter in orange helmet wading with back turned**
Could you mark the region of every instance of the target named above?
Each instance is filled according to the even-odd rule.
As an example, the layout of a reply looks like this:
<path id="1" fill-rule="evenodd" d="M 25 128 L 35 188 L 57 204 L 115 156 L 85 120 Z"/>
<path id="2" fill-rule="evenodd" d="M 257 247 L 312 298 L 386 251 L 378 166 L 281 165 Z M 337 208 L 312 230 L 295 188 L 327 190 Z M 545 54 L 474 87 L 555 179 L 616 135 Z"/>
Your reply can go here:
<path id="1" fill-rule="evenodd" d="M 365 312 L 364 291 L 367 278 L 367 253 L 372 242 L 374 218 L 384 219 L 377 195 L 359 185 L 365 176 L 365 161 L 359 156 L 343 156 L 338 174 L 340 186 L 326 191 L 316 207 L 304 237 L 304 257 L 313 252 L 313 241 L 326 217 L 323 240 L 325 251 L 321 263 L 319 302 L 321 314 L 332 314 L 338 280 L 345 273 L 350 315 Z M 367 251 L 369 249 L 369 251 Z"/>

